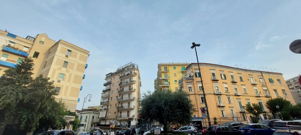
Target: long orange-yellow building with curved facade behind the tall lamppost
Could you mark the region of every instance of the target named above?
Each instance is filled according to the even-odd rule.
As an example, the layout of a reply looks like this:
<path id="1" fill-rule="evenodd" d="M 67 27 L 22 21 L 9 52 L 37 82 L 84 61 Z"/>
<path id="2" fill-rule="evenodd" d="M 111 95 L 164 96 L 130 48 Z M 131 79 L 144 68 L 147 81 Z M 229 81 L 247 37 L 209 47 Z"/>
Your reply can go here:
<path id="1" fill-rule="evenodd" d="M 209 108 L 210 120 L 218 118 L 218 122 L 240 121 L 250 123 L 249 114 L 242 106 L 256 103 L 263 109 L 260 115 L 267 119 L 271 114 L 265 103 L 272 98 L 282 97 L 296 104 L 281 73 L 246 70 L 217 64 L 191 63 L 186 67 L 187 76 L 180 79 L 179 88 L 187 91 L 187 96 L 196 108 L 205 108 L 200 74 Z M 202 117 L 200 110 L 193 117 Z M 207 123 L 208 125 L 208 123 Z"/>

